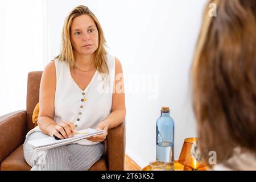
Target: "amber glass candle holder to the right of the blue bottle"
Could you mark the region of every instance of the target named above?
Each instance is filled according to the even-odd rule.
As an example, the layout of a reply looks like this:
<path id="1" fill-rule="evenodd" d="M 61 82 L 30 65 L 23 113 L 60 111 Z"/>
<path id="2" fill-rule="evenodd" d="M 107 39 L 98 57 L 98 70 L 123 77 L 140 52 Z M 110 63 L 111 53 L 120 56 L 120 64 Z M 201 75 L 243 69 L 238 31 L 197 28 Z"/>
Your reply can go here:
<path id="1" fill-rule="evenodd" d="M 184 140 L 179 156 L 179 163 L 184 166 L 184 171 L 197 171 L 199 168 L 207 166 L 204 161 L 198 162 L 191 154 L 193 144 L 196 144 L 199 140 L 199 138 L 186 138 Z"/>

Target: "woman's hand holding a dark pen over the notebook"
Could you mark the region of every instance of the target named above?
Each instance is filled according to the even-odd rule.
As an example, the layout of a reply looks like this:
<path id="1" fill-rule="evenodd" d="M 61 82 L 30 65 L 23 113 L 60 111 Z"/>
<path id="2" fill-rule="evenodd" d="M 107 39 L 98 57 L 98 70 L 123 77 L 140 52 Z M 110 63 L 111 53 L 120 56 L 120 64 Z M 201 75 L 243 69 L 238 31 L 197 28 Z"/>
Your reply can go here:
<path id="1" fill-rule="evenodd" d="M 69 121 L 60 121 L 59 123 L 57 123 L 57 125 L 55 125 L 54 127 L 52 127 L 51 131 L 50 131 L 50 135 L 51 137 L 53 137 L 53 135 L 55 135 L 57 138 L 71 138 L 73 136 L 73 134 L 76 132 L 76 127 L 72 122 Z M 59 132 L 61 134 L 59 134 Z"/>

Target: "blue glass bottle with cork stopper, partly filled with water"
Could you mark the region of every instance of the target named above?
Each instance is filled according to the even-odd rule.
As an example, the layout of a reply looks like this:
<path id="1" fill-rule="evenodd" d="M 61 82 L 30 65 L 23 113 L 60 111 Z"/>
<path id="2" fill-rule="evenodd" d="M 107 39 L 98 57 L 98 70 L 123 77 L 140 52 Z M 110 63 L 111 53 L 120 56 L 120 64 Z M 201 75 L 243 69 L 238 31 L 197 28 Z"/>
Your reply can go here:
<path id="1" fill-rule="evenodd" d="M 166 163 L 166 170 L 174 170 L 174 119 L 169 107 L 162 107 L 156 121 L 156 160 Z"/>

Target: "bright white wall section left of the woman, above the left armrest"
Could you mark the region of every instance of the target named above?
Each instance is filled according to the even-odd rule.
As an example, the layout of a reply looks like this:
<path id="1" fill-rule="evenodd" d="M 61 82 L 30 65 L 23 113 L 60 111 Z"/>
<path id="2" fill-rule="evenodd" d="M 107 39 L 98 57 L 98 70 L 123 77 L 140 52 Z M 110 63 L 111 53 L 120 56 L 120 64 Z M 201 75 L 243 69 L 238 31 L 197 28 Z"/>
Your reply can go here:
<path id="1" fill-rule="evenodd" d="M 0 1 L 0 115 L 26 109 L 27 74 L 42 71 L 43 1 Z"/>

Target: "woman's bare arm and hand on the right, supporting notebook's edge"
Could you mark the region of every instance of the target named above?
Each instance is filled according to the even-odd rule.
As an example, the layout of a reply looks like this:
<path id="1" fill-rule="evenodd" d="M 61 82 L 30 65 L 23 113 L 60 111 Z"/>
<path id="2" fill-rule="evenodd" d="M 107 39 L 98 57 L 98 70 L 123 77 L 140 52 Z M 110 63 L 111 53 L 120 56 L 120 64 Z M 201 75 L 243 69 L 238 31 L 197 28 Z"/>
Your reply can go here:
<path id="1" fill-rule="evenodd" d="M 104 121 L 100 122 L 97 130 L 105 130 L 102 135 L 95 135 L 94 137 L 87 138 L 93 142 L 102 142 L 106 135 L 108 135 L 108 129 L 117 127 L 125 119 L 125 88 L 123 81 L 123 71 L 120 61 L 115 57 L 115 80 L 114 80 L 114 93 L 112 96 L 112 110 Z"/>

